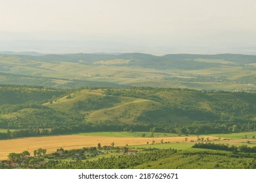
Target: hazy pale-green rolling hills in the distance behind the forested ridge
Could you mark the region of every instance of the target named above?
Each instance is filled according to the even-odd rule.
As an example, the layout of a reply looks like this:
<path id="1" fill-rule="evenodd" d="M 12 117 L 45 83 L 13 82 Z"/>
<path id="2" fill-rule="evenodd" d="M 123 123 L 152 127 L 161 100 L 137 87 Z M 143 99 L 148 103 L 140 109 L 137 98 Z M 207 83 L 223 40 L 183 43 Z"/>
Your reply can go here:
<path id="1" fill-rule="evenodd" d="M 0 84 L 151 86 L 255 92 L 256 56 L 143 53 L 0 55 Z"/>

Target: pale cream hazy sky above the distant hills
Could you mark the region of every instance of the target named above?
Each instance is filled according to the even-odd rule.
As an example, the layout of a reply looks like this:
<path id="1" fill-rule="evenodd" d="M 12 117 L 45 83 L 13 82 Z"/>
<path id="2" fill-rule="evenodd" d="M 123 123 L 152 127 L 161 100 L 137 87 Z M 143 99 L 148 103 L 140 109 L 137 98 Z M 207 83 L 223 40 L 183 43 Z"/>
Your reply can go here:
<path id="1" fill-rule="evenodd" d="M 255 0 L 0 0 L 0 51 L 256 54 Z"/>

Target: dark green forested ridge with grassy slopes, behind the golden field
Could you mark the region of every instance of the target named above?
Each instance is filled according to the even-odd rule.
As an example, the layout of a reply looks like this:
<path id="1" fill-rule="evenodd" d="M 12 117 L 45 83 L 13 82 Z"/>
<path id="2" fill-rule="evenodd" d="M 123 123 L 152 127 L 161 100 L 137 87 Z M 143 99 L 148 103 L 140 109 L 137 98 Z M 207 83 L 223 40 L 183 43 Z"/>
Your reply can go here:
<path id="1" fill-rule="evenodd" d="M 81 131 L 255 130 L 256 94 L 181 88 L 0 86 L 0 138 Z"/>

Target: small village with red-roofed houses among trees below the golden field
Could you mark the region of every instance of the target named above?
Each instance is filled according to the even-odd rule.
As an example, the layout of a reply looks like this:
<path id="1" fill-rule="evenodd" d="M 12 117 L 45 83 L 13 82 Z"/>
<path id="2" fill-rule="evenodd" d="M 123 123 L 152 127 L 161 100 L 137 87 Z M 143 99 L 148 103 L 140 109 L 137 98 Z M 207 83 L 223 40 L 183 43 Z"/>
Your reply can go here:
<path id="1" fill-rule="evenodd" d="M 56 161 L 81 162 L 93 160 L 95 157 L 110 157 L 112 155 L 136 155 L 138 150 L 128 147 L 114 147 L 114 142 L 111 146 L 103 146 L 98 144 L 96 147 L 65 150 L 59 148 L 54 153 L 46 154 L 46 149 L 39 148 L 33 152 L 33 156 L 28 151 L 22 153 L 9 153 L 8 160 L 0 161 L 1 169 L 13 168 L 46 168 L 48 164 Z"/>

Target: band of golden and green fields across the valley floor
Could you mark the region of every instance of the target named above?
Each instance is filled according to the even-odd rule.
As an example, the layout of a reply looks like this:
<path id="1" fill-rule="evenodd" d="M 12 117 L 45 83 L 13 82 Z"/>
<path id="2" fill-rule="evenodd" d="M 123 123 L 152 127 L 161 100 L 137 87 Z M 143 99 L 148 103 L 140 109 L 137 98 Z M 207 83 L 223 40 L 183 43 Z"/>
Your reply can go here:
<path id="1" fill-rule="evenodd" d="M 83 147 L 94 147 L 98 143 L 101 146 L 110 146 L 112 142 L 115 146 L 130 146 L 133 148 L 176 148 L 200 151 L 202 149 L 191 148 L 197 142 L 197 136 L 174 136 L 170 133 L 155 133 L 154 137 L 139 137 L 143 132 L 126 133 L 126 132 L 99 132 L 99 133 L 78 133 L 76 135 L 59 135 L 59 136 L 40 136 L 40 137 L 27 137 L 17 138 L 12 140 L 0 140 L 0 160 L 7 159 L 8 153 L 20 153 L 28 150 L 33 153 L 33 150 L 38 148 L 47 149 L 47 153 L 56 151 L 57 148 L 76 149 Z M 149 133 L 146 133 L 149 135 Z M 169 135 L 168 137 L 165 135 Z M 248 138 L 244 138 L 244 136 Z M 218 135 L 200 135 L 199 138 L 208 138 L 209 142 L 216 142 L 222 144 L 229 144 L 234 146 L 241 146 L 248 144 L 249 146 L 256 146 L 256 139 L 252 138 L 256 132 L 248 133 L 231 133 L 231 134 L 218 134 Z M 221 139 L 219 140 L 219 137 Z M 185 142 L 187 138 L 187 142 Z M 152 144 L 152 141 L 155 144 Z M 161 144 L 163 140 L 164 144 Z M 194 142 L 191 142 L 193 140 Z M 148 144 L 146 144 L 148 142 Z M 165 143 L 167 142 L 167 143 Z"/>

